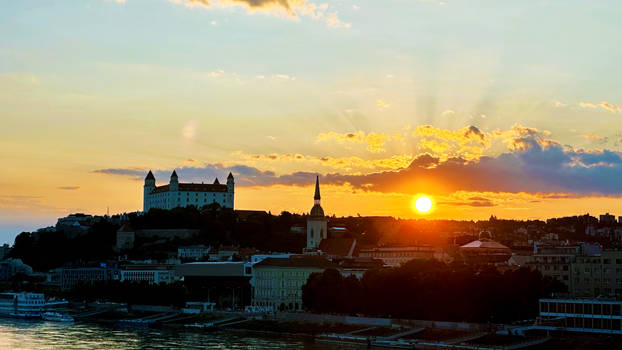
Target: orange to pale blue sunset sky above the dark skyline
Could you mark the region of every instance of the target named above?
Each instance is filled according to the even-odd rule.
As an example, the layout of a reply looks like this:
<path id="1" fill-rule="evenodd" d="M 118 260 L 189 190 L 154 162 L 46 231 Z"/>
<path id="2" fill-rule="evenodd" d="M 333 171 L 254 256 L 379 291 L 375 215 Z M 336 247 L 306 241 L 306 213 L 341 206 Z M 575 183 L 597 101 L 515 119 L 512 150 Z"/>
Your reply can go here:
<path id="1" fill-rule="evenodd" d="M 619 1 L 0 4 L 0 243 L 158 183 L 402 218 L 622 215 Z M 429 214 L 414 196 L 433 200 Z"/>

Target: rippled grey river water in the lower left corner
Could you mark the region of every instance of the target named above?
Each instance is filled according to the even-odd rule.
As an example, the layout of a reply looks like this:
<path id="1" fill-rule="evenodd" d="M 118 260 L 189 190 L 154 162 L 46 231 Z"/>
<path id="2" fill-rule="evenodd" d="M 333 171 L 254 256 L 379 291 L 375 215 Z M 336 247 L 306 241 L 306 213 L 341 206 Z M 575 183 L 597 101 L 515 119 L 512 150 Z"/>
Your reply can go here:
<path id="1" fill-rule="evenodd" d="M 0 318 L 0 349 L 361 349 L 314 343 L 311 339 L 242 332 L 185 332 L 124 329 L 96 324 L 62 324 Z"/>

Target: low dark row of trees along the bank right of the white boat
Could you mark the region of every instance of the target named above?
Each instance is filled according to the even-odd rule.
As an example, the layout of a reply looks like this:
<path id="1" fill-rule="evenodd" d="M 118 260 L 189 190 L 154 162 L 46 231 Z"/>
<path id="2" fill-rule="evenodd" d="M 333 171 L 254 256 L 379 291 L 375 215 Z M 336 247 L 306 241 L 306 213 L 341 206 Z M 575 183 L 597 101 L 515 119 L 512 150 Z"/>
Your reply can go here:
<path id="1" fill-rule="evenodd" d="M 187 291 L 181 282 L 149 284 L 147 282 L 100 281 L 78 284 L 64 294 L 70 300 L 111 301 L 129 305 L 163 305 L 183 307 Z"/>

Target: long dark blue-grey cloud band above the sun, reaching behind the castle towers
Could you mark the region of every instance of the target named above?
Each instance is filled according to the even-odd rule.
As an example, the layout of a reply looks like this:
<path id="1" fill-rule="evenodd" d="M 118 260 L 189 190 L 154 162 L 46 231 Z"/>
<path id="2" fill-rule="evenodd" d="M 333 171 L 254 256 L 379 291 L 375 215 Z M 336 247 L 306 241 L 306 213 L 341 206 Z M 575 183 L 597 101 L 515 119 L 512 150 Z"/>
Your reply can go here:
<path id="1" fill-rule="evenodd" d="M 475 131 L 473 131 L 475 132 Z M 364 191 L 396 193 L 437 193 L 455 191 L 529 192 L 567 198 L 577 195 L 621 195 L 622 155 L 611 150 L 585 151 L 564 147 L 555 141 L 539 139 L 526 129 L 515 141 L 521 147 L 496 157 L 482 157 L 476 161 L 462 158 L 440 160 L 423 154 L 407 168 L 365 175 L 326 174 L 325 184 L 351 184 Z M 168 182 L 172 169 L 154 171 L 159 182 Z M 213 182 L 226 178 L 231 171 L 238 186 L 309 185 L 315 173 L 295 172 L 277 175 L 246 165 L 223 167 L 208 164 L 204 167 L 177 169 L 182 181 Z M 100 169 L 97 173 L 144 178 L 146 170 Z M 483 197 L 464 202 L 471 206 L 491 206 Z"/>

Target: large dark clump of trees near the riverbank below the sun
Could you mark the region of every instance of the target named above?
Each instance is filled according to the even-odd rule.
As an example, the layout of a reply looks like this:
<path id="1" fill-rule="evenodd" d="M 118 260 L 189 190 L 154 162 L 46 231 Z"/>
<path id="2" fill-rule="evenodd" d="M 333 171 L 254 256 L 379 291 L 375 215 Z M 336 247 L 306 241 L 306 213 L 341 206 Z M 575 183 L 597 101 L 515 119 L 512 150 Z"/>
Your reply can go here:
<path id="1" fill-rule="evenodd" d="M 332 269 L 314 273 L 302 287 L 302 299 L 306 309 L 319 313 L 509 322 L 536 317 L 538 299 L 564 289 L 527 268 L 501 273 L 490 266 L 413 260 L 370 270 L 361 280 Z"/>

